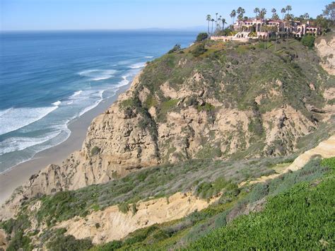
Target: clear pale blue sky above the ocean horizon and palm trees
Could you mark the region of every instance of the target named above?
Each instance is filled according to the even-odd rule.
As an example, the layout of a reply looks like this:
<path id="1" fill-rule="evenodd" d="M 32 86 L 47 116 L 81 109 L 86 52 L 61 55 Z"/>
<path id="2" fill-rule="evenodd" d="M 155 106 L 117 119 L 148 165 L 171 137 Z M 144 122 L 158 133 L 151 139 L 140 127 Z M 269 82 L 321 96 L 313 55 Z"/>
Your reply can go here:
<path id="1" fill-rule="evenodd" d="M 280 13 L 290 4 L 293 14 L 316 17 L 330 0 L 0 0 L 0 30 L 118 30 L 140 28 L 206 27 L 215 13 L 231 23 L 239 6 L 245 16 L 255 7 Z"/>

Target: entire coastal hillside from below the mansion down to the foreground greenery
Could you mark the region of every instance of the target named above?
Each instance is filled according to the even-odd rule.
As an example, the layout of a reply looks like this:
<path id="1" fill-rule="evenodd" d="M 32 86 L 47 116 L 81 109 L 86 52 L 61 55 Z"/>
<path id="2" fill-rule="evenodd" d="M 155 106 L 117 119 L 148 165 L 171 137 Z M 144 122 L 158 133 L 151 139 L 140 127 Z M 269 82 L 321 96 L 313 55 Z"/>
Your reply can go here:
<path id="1" fill-rule="evenodd" d="M 279 247 L 285 240 L 253 240 L 300 232 L 283 226 L 285 214 L 268 235 L 259 228 L 276 206 L 296 218 L 305 194 L 313 207 L 299 221 L 316 211 L 324 228 L 308 225 L 315 232 L 301 233 L 313 236 L 304 247 L 334 247 L 324 203 L 334 190 L 334 159 L 310 160 L 329 158 L 334 148 L 321 144 L 324 151 L 290 165 L 334 135 L 333 44 L 333 35 L 316 49 L 292 39 L 276 51 L 274 42 L 264 49 L 264 42 L 206 40 L 148 62 L 93 120 L 81 151 L 30 177 L 2 206 L 0 248 L 2 241 L 8 250 L 201 249 L 234 246 L 245 236 L 254 239 L 241 248 Z M 273 180 L 253 182 L 262 177 Z M 290 197 L 295 204 L 286 208 Z M 250 227 L 237 231 L 243 226 Z"/>

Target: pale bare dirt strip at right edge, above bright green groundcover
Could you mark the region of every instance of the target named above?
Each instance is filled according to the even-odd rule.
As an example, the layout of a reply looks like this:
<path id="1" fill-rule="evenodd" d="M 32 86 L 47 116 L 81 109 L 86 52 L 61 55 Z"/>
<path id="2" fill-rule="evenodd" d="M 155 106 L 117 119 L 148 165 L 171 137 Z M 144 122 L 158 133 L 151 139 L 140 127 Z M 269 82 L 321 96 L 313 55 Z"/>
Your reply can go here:
<path id="1" fill-rule="evenodd" d="M 305 151 L 305 153 L 302 153 L 298 158 L 295 158 L 292 164 L 288 165 L 288 167 L 283 168 L 281 170 L 277 170 L 277 173 L 274 175 L 269 176 L 261 176 L 257 180 L 247 181 L 247 182 L 241 182 L 239 187 L 242 187 L 243 185 L 249 184 L 255 184 L 259 182 L 265 182 L 266 180 L 272 180 L 279 175 L 282 175 L 283 173 L 288 173 L 291 171 L 296 171 L 302 168 L 304 165 L 308 163 L 314 156 L 321 156 L 322 158 L 331 158 L 335 157 L 335 135 L 331 136 L 329 139 L 322 141 L 318 146 L 315 148 L 312 148 L 308 151 Z"/>

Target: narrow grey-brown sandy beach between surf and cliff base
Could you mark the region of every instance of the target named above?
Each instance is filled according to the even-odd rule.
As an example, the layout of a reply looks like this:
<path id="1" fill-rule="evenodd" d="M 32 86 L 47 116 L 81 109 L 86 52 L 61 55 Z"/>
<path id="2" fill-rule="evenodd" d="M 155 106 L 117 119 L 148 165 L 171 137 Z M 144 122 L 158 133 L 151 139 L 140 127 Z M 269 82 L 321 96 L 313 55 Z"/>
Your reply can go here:
<path id="1" fill-rule="evenodd" d="M 116 95 L 102 100 L 97 107 L 94 107 L 81 117 L 74 119 L 74 121 L 69 124 L 69 129 L 71 130 L 69 139 L 57 146 L 41 151 L 40 153 L 37 153 L 33 159 L 16 165 L 5 173 L 1 173 L 0 204 L 3 204 L 6 199 L 11 196 L 16 187 L 27 182 L 31 175 L 47 167 L 49 164 L 61 163 L 70 153 L 80 150 L 90 122 L 92 122 L 96 116 L 107 110 L 107 108 L 117 100 L 119 94 L 126 91 L 129 86 L 130 83 L 127 86 L 122 86 L 119 91 L 117 91 Z"/>

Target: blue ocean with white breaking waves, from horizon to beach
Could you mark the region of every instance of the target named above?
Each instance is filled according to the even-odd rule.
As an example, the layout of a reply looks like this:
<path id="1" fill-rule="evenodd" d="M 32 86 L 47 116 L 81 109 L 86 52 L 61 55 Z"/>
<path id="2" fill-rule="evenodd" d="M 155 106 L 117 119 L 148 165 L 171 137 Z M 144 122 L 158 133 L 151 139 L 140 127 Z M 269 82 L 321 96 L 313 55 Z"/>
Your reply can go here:
<path id="1" fill-rule="evenodd" d="M 65 141 L 69 122 L 196 32 L 0 33 L 0 173 Z"/>

